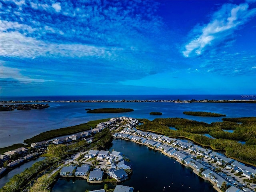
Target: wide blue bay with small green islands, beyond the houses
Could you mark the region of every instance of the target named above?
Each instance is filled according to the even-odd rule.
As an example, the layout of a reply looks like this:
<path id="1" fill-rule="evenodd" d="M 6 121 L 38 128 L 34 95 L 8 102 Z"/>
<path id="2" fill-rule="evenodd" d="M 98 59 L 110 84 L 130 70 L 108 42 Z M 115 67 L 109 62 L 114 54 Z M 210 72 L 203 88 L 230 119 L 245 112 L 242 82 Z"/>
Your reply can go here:
<path id="1" fill-rule="evenodd" d="M 206 111 L 226 114 L 226 117 L 256 116 L 256 104 L 247 103 L 168 103 L 168 102 L 125 102 L 125 103 L 49 103 L 42 110 L 14 110 L 0 112 L 0 146 L 23 143 L 41 132 L 86 123 L 90 120 L 129 116 L 153 120 L 150 112 L 162 112 L 158 118 L 187 118 L 202 122 L 222 121 L 218 117 L 200 117 L 183 114 L 184 111 Z M 86 108 L 132 108 L 134 111 L 118 114 L 86 113 Z"/>

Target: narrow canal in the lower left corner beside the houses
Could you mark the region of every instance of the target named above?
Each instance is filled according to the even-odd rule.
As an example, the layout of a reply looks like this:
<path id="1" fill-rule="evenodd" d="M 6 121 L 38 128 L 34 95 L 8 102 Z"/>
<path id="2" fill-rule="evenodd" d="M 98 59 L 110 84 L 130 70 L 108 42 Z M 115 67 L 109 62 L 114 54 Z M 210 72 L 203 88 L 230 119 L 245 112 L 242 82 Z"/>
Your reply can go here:
<path id="1" fill-rule="evenodd" d="M 0 179 L 0 188 L 2 188 L 14 175 L 20 174 L 26 168 L 30 168 L 35 162 L 44 160 L 44 157 L 38 157 L 36 159 L 32 159 L 16 168 L 8 172 L 5 176 Z"/>

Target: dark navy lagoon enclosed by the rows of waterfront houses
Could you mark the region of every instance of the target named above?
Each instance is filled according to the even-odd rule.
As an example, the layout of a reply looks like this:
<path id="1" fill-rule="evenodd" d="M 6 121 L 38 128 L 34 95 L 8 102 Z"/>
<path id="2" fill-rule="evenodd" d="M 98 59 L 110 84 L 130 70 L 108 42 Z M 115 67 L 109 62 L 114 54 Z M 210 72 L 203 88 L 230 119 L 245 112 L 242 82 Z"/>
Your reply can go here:
<path id="1" fill-rule="evenodd" d="M 192 169 L 159 151 L 121 139 L 113 140 L 112 143 L 110 151 L 123 152 L 131 161 L 133 174 L 122 185 L 134 187 L 134 192 L 216 192 L 210 182 L 198 177 Z M 108 186 L 114 188 L 112 184 Z M 92 185 L 86 180 L 59 179 L 53 192 L 84 192 L 103 187 L 104 184 Z"/>

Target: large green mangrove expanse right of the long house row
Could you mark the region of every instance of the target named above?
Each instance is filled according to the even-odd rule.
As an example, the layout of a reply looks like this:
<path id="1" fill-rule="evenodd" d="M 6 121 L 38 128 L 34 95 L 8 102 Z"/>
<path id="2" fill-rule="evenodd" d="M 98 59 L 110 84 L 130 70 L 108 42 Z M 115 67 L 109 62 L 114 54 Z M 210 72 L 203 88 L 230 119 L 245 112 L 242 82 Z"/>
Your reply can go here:
<path id="1" fill-rule="evenodd" d="M 229 120 L 232 119 L 229 118 Z M 140 121 L 143 121 L 144 124 L 137 128 L 170 137 L 187 138 L 215 150 L 225 150 L 229 157 L 256 165 L 256 122 L 250 121 L 254 118 L 243 118 L 242 120 L 242 124 L 232 121 L 208 124 L 183 118 L 156 118 L 152 121 L 142 119 Z M 175 127 L 177 130 L 171 130 L 169 127 Z M 222 129 L 234 130 L 234 132 L 224 132 Z M 216 139 L 202 134 L 210 134 Z M 238 141 L 246 141 L 246 144 L 242 145 Z"/>

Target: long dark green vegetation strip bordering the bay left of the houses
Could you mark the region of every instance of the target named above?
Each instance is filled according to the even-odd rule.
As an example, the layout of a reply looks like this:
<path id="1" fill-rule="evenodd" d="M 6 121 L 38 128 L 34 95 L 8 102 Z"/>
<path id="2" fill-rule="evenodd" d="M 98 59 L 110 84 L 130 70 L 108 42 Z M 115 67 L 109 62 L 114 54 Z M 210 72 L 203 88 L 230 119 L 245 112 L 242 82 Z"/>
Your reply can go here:
<path id="1" fill-rule="evenodd" d="M 70 126 L 70 127 L 65 127 L 65 128 L 54 129 L 54 130 L 42 132 L 39 135 L 36 135 L 30 139 L 24 140 L 24 143 L 31 144 L 34 142 L 50 140 L 52 138 L 59 137 L 59 136 L 65 136 L 65 135 L 69 135 L 69 134 L 82 132 L 85 130 L 90 130 L 91 127 L 94 128 L 100 122 L 105 122 L 108 120 L 110 120 L 110 119 L 108 118 L 108 119 L 89 121 L 87 123 L 83 123 L 80 125 L 75 125 L 75 126 Z"/>

